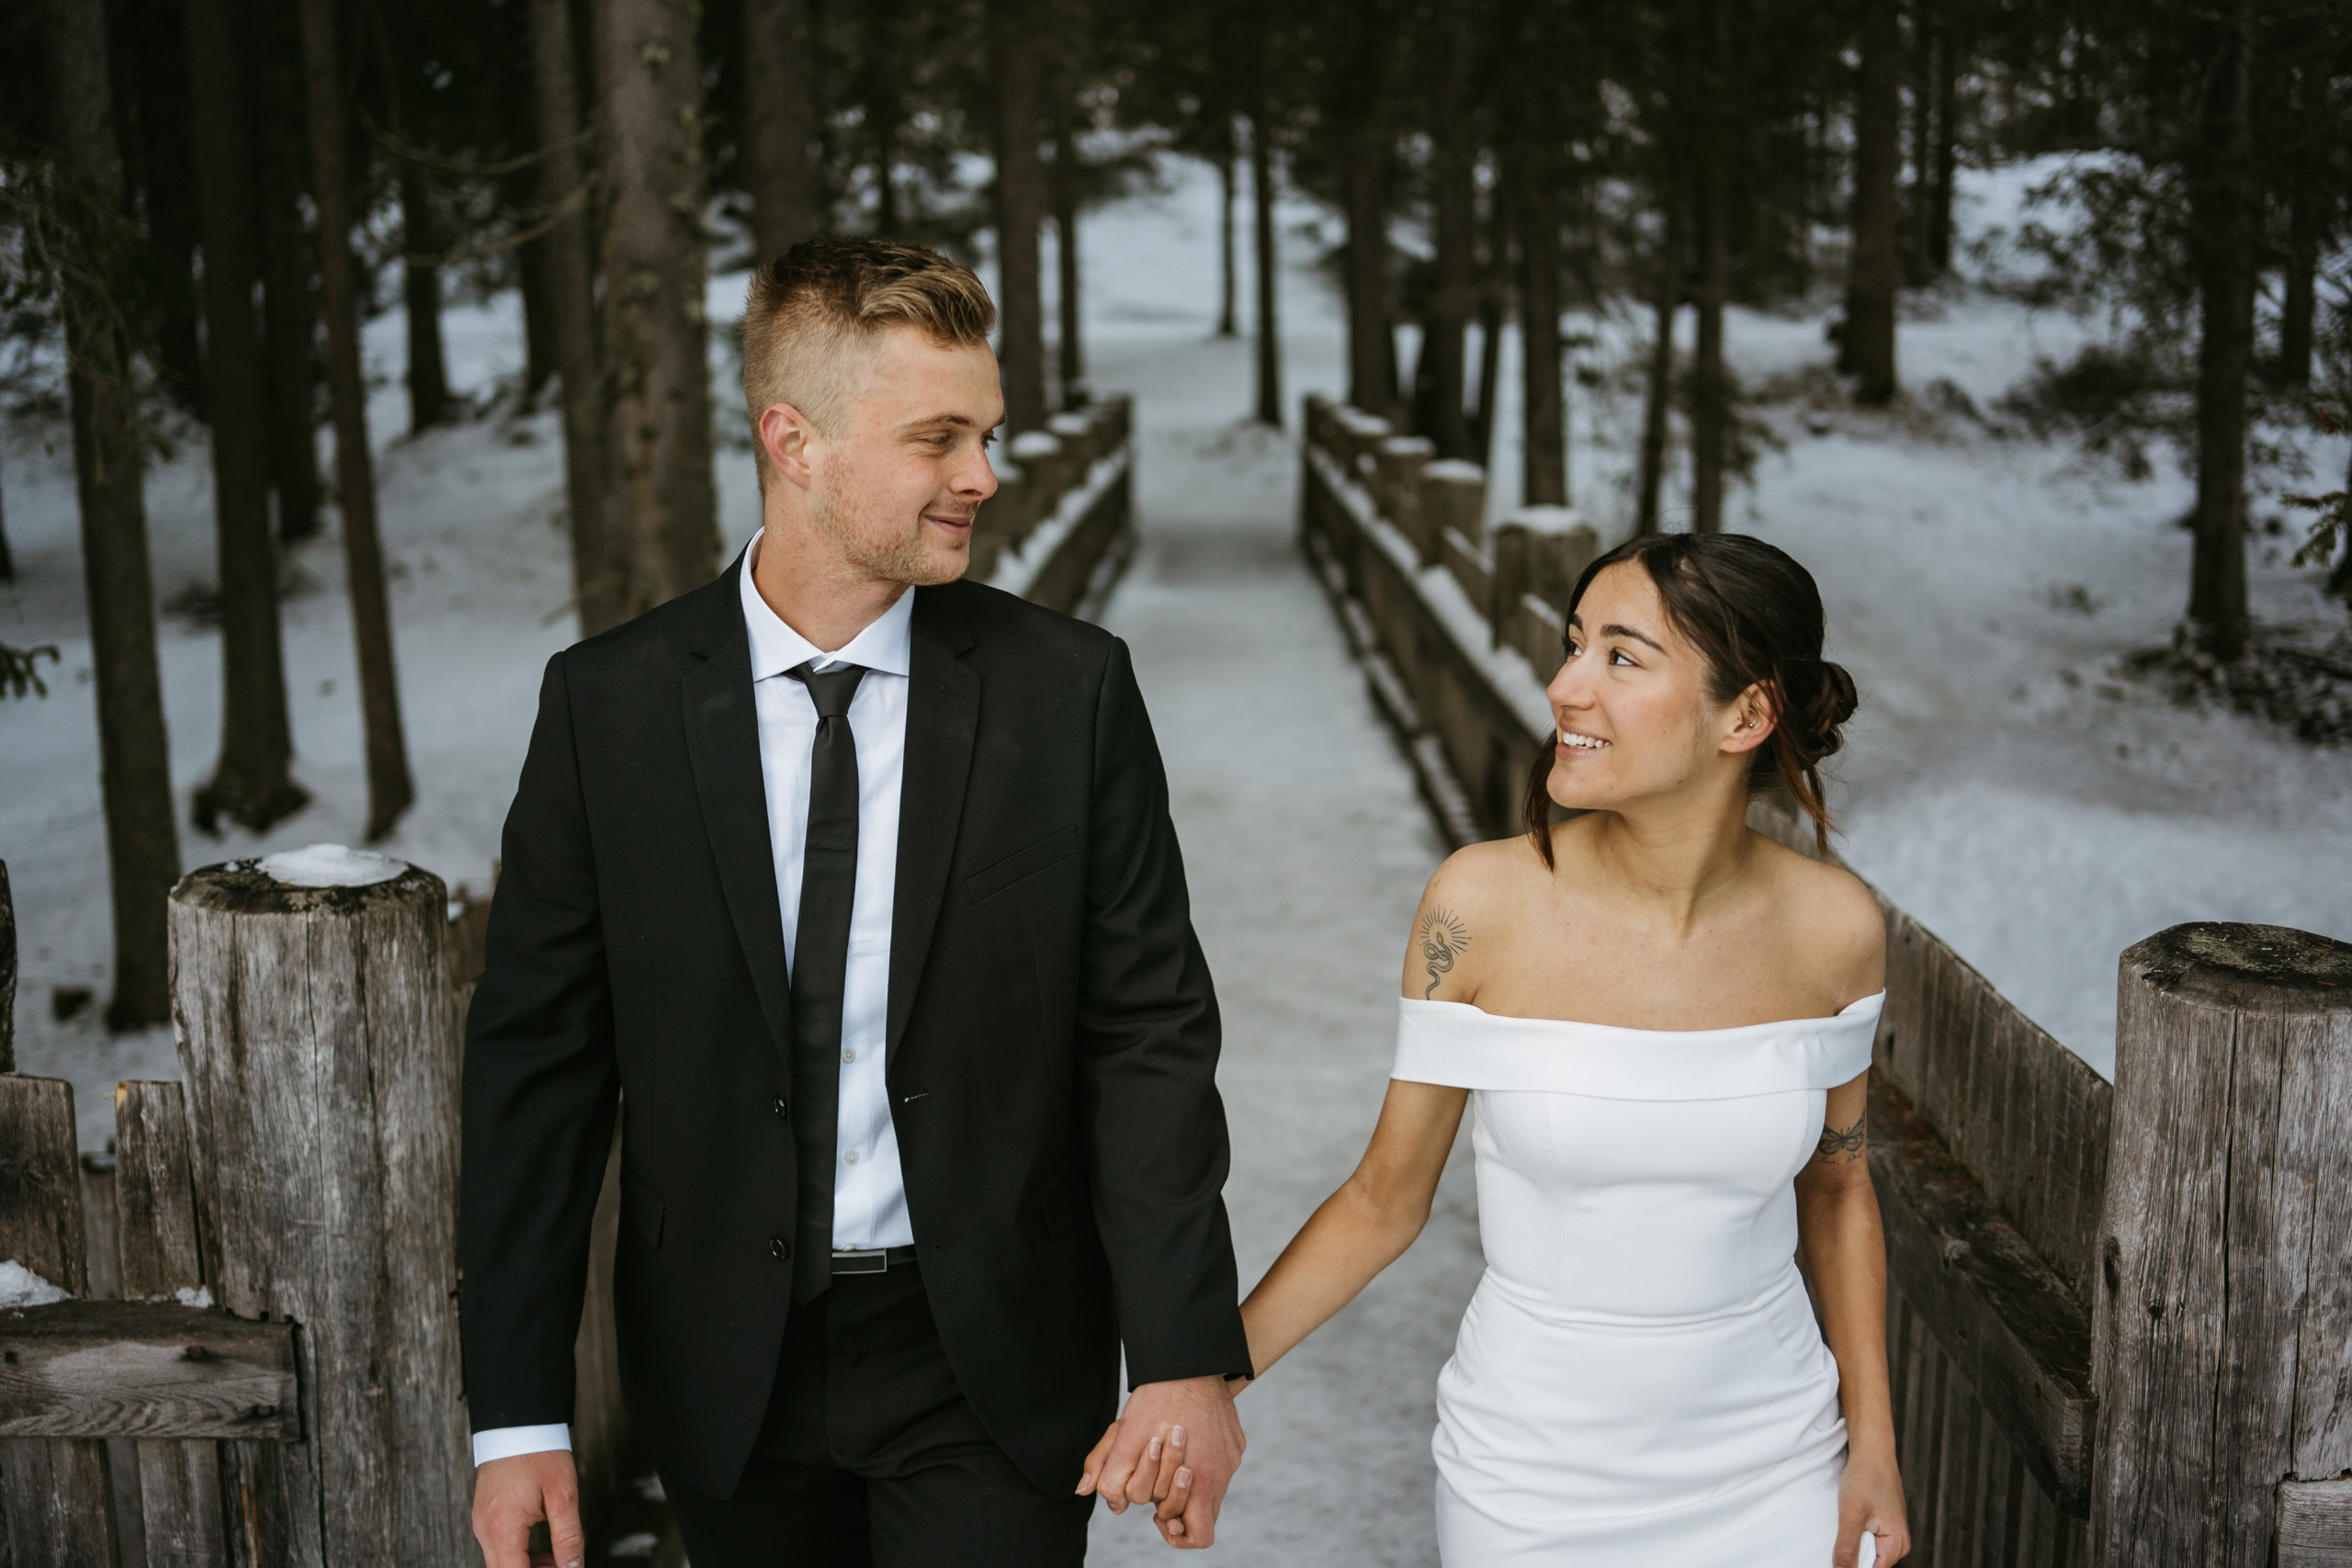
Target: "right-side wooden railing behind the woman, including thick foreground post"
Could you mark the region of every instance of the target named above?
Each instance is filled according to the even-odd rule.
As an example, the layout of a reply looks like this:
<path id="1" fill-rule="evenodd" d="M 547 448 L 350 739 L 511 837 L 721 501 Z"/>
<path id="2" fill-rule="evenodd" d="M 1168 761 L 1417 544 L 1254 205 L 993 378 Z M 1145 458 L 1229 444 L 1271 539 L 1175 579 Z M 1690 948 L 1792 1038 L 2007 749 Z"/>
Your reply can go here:
<path id="1" fill-rule="evenodd" d="M 1308 400 L 1301 536 L 1456 842 L 1517 832 L 1595 552 Z M 1811 837 L 1771 802 L 1750 818 Z M 2352 1566 L 2352 947 L 2176 926 L 2100 1079 L 1884 898 L 1870 1168 L 1915 1559 Z M 2103 980 L 2096 980 L 2103 983 Z"/>

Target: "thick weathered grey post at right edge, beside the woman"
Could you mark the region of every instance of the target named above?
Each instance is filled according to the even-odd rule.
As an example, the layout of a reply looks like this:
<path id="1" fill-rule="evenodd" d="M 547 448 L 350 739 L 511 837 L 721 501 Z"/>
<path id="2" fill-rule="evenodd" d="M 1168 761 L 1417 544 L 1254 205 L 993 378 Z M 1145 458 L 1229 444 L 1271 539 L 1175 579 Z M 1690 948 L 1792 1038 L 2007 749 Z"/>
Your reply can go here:
<path id="1" fill-rule="evenodd" d="M 2091 1556 L 2352 1563 L 2352 945 L 2124 952 L 2093 1314 Z M 2277 1554 L 2274 1554 L 2277 1549 Z"/>

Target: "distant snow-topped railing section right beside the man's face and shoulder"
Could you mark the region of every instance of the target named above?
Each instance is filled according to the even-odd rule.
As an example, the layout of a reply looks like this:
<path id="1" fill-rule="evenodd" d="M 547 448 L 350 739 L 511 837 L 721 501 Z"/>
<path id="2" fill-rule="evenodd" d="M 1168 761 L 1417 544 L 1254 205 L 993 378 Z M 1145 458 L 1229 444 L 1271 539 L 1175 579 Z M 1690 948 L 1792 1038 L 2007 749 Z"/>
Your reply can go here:
<path id="1" fill-rule="evenodd" d="M 1129 548 L 1134 404 L 1108 397 L 1023 430 L 971 534 L 971 576 L 1077 614 Z"/>

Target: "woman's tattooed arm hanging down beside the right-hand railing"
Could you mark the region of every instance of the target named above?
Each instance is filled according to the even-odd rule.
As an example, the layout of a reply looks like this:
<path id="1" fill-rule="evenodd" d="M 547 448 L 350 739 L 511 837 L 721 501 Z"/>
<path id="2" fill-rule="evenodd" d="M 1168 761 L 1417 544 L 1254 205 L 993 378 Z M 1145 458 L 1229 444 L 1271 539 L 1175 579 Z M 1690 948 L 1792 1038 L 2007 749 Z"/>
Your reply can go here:
<path id="1" fill-rule="evenodd" d="M 1797 1173 L 1797 1246 L 1804 1251 L 1820 1326 L 1837 1356 L 1846 1408 L 1846 1481 L 1839 1495 L 1837 1568 L 1853 1568 L 1858 1535 L 1877 1533 L 1877 1561 L 1910 1552 L 1896 1418 L 1886 1380 L 1886 1237 L 1870 1187 L 1870 1074 L 1830 1091 L 1820 1147 Z"/>

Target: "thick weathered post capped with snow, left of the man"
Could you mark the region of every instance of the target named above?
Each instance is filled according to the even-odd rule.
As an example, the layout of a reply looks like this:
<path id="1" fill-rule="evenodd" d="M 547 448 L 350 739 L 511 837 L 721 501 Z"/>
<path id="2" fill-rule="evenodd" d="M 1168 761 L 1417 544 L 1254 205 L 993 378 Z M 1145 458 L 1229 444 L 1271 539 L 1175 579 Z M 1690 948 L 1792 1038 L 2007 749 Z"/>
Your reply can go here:
<path id="1" fill-rule="evenodd" d="M 287 1559 L 473 1554 L 459 1394 L 459 1046 L 440 877 L 318 846 L 172 889 L 172 1018 L 205 1279 L 301 1328 L 301 1443 L 223 1486 Z"/>

